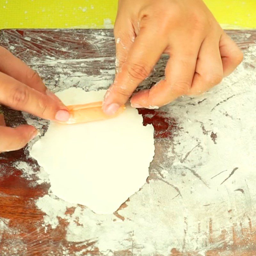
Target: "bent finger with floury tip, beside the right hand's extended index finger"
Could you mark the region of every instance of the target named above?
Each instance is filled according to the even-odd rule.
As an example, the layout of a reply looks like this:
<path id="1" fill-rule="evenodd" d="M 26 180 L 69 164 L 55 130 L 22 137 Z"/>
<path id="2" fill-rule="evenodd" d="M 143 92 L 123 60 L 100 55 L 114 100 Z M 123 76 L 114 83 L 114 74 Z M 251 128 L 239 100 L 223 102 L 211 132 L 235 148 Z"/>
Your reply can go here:
<path id="1" fill-rule="evenodd" d="M 170 103 L 190 90 L 196 68 L 200 43 L 180 45 L 172 49 L 165 68 L 165 79 L 150 90 L 136 93 L 131 99 L 135 108 L 158 108 Z"/>

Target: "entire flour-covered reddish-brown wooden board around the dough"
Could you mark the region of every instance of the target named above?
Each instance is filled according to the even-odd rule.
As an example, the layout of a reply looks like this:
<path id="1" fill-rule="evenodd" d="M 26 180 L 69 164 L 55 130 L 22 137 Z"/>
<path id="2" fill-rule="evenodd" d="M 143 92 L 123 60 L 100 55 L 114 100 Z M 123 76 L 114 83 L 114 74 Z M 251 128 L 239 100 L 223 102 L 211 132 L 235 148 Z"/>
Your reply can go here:
<path id="1" fill-rule="evenodd" d="M 228 34 L 244 52 L 231 76 L 197 98 L 140 110 L 155 127 L 156 155 L 147 183 L 114 214 L 49 193 L 46 173 L 29 157 L 32 143 L 1 154 L 0 255 L 254 256 L 256 32 Z M 54 92 L 105 89 L 113 80 L 108 30 L 3 30 L 0 38 Z M 163 76 L 165 62 L 143 86 Z M 4 112 L 7 124 L 47 130 L 47 121 Z"/>

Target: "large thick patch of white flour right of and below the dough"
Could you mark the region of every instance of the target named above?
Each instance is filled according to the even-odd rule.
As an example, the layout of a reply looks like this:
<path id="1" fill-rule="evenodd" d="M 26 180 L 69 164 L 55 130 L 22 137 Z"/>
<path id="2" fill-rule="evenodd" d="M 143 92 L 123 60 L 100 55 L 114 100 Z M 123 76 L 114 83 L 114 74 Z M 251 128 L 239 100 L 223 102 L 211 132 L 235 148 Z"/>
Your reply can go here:
<path id="1" fill-rule="evenodd" d="M 255 61 L 252 52 L 256 52 L 254 46 L 245 53 L 250 64 Z M 204 248 L 200 253 L 205 255 L 214 246 L 207 241 L 211 221 L 212 236 L 218 237 L 225 229 L 226 241 L 232 240 L 233 228 L 241 233 L 239 223 L 248 228 L 247 216 L 256 220 L 256 174 L 252 168 L 256 132 L 251 118 L 256 116 L 256 86 L 253 69 L 244 65 L 248 62 L 210 92 L 182 97 L 162 108 L 171 112 L 183 129 L 174 137 L 160 167 L 151 168 L 158 178 L 146 183 L 126 202 L 128 207 L 118 211 L 124 221 L 114 214 L 97 215 L 81 207 L 63 216 L 65 207 L 61 208 L 60 216 L 69 222 L 67 240 L 95 240 L 94 245 L 106 255 L 120 250 L 132 250 L 134 255 L 169 255 L 172 248 L 183 252 Z M 217 135 L 216 143 L 212 132 Z M 161 146 L 162 142 L 157 143 Z M 227 179 L 235 168 L 235 174 Z M 38 207 L 46 211 L 52 200 L 58 201 L 45 197 Z M 58 212 L 58 207 L 52 212 Z M 56 213 L 53 215 L 48 218 L 55 227 Z"/>

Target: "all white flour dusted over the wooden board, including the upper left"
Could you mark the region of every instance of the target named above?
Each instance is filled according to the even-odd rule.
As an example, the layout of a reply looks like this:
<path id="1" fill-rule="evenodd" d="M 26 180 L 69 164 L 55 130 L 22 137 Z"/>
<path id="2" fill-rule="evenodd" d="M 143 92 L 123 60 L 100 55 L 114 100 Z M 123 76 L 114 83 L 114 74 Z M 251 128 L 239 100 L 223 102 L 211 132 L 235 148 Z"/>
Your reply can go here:
<path id="1" fill-rule="evenodd" d="M 31 41 L 25 40 L 24 44 L 36 51 L 31 42 L 38 35 L 27 32 L 25 36 Z M 89 58 L 84 54 L 83 58 L 76 58 L 76 51 L 60 42 L 54 47 L 62 49 L 63 58 L 56 59 L 48 50 L 42 50 L 40 58 L 34 56 L 33 51 L 28 56 L 26 50 L 20 57 L 23 56 L 38 71 L 53 92 L 71 86 L 81 87 L 84 91 L 106 89 L 115 74 L 113 35 L 105 30 L 89 32 L 86 36 L 74 32 L 68 39 L 75 42 L 74 38 L 80 38 L 77 40 L 79 47 L 81 42 L 88 42 L 83 45 L 86 51 L 100 52 L 99 56 Z M 156 138 L 156 155 L 149 168 L 148 182 L 117 212 L 95 214 L 86 206 L 57 198 L 50 191 L 37 199 L 37 208 L 45 214 L 42 228 L 46 234 L 52 229 L 57 230 L 64 220 L 68 243 L 90 244 L 73 254 L 64 245 L 60 255 L 80 256 L 94 250 L 94 255 L 99 252 L 109 256 L 122 253 L 169 256 L 175 248 L 179 253 L 193 255 L 196 252 L 205 256 L 210 250 L 224 246 L 232 252 L 232 245 L 237 240 L 247 241 L 246 232 L 250 236 L 253 234 L 256 223 L 256 129 L 253 118 L 256 116 L 256 45 L 244 47 L 247 43 L 243 42 L 254 40 L 250 32 L 234 38 L 240 40 L 237 41 L 244 49 L 244 61 L 234 73 L 207 93 L 181 97 L 156 110 L 156 114 L 167 112 L 164 114 L 166 119 L 174 118 L 179 129 L 170 139 Z M 13 43 L 11 36 L 8 40 L 15 54 L 19 44 Z M 107 43 L 103 44 L 103 41 Z M 43 41 L 40 44 L 43 45 Z M 74 49 L 76 47 L 78 45 Z M 72 54 L 68 55 L 69 52 Z M 166 61 L 163 56 L 155 66 L 155 72 L 142 84 L 143 88 L 164 76 Z M 43 136 L 49 121 L 23 115 Z M 29 143 L 26 154 L 36 140 L 38 138 Z M 42 168 L 33 172 L 31 164 L 24 161 L 14 163 L 13 167 L 19 169 L 22 177 L 33 186 L 48 182 Z M 0 242 L 4 233 L 18 232 L 9 226 L 9 221 L 0 219 Z M 13 246 L 9 240 L 1 253 L 23 255 L 21 253 L 27 250 L 23 242 L 16 239 Z"/>

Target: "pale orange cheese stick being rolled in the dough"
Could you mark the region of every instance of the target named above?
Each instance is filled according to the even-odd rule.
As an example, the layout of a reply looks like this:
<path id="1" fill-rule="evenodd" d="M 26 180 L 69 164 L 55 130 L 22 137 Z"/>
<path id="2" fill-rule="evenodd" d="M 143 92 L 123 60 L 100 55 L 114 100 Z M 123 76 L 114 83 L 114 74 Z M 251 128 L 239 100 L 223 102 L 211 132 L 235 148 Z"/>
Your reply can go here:
<path id="1" fill-rule="evenodd" d="M 124 111 L 125 106 L 120 107 L 116 114 L 112 116 L 106 115 L 103 112 L 102 101 L 82 105 L 71 105 L 67 106 L 67 108 L 71 117 L 68 122 L 62 122 L 62 124 L 80 124 L 92 121 L 106 120 L 120 115 Z"/>

